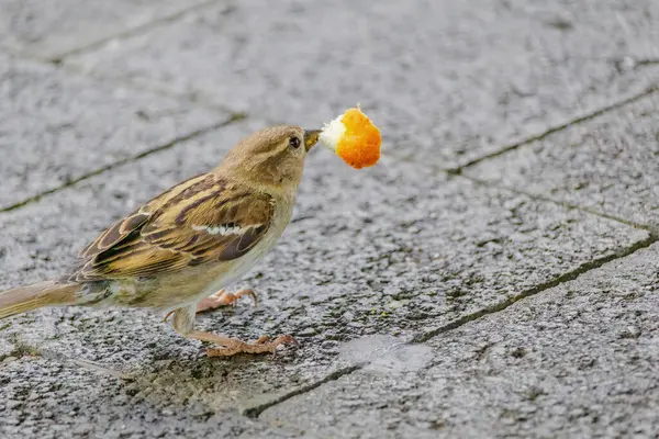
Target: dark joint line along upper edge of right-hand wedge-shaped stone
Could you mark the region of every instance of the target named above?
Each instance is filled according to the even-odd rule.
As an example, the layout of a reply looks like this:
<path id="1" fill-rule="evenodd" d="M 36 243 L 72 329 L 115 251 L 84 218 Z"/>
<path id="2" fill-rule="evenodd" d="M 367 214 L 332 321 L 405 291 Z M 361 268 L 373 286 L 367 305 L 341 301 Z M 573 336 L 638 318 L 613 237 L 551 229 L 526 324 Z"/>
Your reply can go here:
<path id="1" fill-rule="evenodd" d="M 566 128 L 569 128 L 570 126 L 579 125 L 579 124 L 581 124 L 583 122 L 587 122 L 587 121 L 590 121 L 592 119 L 599 117 L 599 116 L 601 116 L 601 115 L 603 115 L 605 113 L 608 113 L 610 111 L 614 111 L 614 110 L 617 110 L 617 109 L 619 109 L 622 106 L 632 104 L 632 103 L 634 103 L 634 102 L 636 102 L 636 101 L 638 101 L 638 100 L 640 100 L 640 99 L 643 99 L 645 97 L 648 97 L 648 95 L 650 95 L 650 94 L 652 94 L 655 92 L 658 92 L 658 91 L 659 91 L 659 86 L 648 87 L 646 90 L 644 90 L 643 92 L 640 92 L 638 94 L 634 94 L 634 95 L 632 95 L 632 97 L 629 97 L 627 99 L 624 99 L 624 100 L 622 100 L 619 102 L 612 103 L 610 105 L 606 105 L 606 106 L 603 106 L 601 109 L 597 109 L 597 110 L 595 110 L 595 111 L 593 111 L 591 113 L 588 113 L 588 114 L 584 114 L 582 116 L 572 119 L 572 120 L 570 120 L 568 122 L 565 122 L 565 123 L 562 123 L 560 125 L 550 127 L 550 128 L 546 130 L 545 132 L 543 132 L 540 134 L 537 134 L 535 136 L 525 138 L 525 139 L 520 140 L 520 142 L 517 142 L 515 144 L 505 146 L 505 147 L 503 147 L 503 148 L 501 148 L 499 150 L 495 150 L 494 153 L 490 153 L 490 154 L 487 154 L 484 156 L 477 157 L 473 160 L 468 161 L 465 165 L 458 166 L 457 168 L 445 169 L 445 171 L 447 171 L 450 175 L 461 175 L 465 169 L 470 168 L 470 167 L 472 167 L 474 165 L 478 165 L 478 164 L 480 164 L 482 161 L 485 161 L 485 160 L 489 160 L 489 159 L 502 156 L 502 155 L 504 155 L 504 154 L 506 154 L 509 151 L 515 150 L 515 149 L 517 149 L 517 148 L 520 148 L 520 147 L 522 147 L 524 145 L 528 145 L 528 144 L 530 144 L 533 142 L 541 140 L 541 139 L 544 139 L 545 137 L 547 137 L 547 136 L 549 136 L 551 134 L 561 132 L 561 131 L 563 131 Z"/>

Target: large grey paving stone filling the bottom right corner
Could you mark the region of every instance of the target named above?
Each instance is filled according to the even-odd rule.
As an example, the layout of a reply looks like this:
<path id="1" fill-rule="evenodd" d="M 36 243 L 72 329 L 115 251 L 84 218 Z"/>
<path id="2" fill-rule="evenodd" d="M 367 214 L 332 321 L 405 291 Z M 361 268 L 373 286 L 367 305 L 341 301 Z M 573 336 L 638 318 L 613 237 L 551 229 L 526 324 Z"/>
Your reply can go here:
<path id="1" fill-rule="evenodd" d="M 656 437 L 658 264 L 655 244 L 259 419 L 342 438 Z"/>

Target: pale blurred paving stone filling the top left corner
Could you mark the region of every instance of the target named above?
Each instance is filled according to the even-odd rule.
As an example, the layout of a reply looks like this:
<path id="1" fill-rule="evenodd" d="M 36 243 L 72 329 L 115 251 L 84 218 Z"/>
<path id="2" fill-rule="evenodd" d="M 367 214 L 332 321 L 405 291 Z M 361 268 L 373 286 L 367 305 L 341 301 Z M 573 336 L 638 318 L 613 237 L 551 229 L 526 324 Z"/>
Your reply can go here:
<path id="1" fill-rule="evenodd" d="M 202 0 L 1 0 L 0 46 L 55 58 L 185 11 Z"/>

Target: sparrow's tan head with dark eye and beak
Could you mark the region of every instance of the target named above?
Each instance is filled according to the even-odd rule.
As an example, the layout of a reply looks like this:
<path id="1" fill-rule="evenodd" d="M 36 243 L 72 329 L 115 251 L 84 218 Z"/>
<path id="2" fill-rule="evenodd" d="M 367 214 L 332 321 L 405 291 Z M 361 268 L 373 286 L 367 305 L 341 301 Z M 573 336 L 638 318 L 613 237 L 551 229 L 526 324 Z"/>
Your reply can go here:
<path id="1" fill-rule="evenodd" d="M 234 146 L 220 169 L 256 185 L 297 188 L 320 133 L 291 125 L 257 131 Z"/>

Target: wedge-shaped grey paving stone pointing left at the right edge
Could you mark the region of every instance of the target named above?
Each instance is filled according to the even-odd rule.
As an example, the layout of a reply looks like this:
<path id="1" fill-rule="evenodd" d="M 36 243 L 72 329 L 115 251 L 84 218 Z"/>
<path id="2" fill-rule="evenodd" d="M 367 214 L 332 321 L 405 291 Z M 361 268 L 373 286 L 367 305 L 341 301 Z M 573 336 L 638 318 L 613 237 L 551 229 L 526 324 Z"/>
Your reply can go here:
<path id="1" fill-rule="evenodd" d="M 465 173 L 659 227 L 658 120 L 652 93 Z"/>

